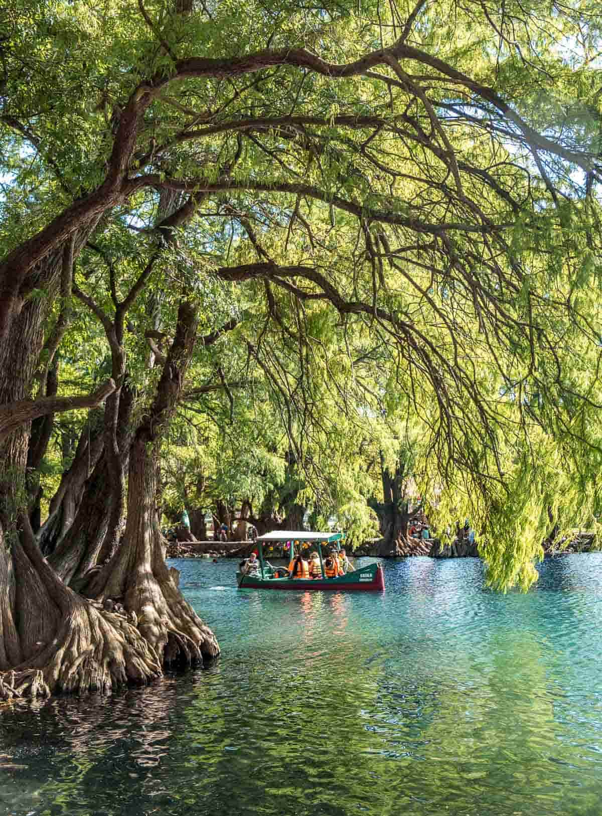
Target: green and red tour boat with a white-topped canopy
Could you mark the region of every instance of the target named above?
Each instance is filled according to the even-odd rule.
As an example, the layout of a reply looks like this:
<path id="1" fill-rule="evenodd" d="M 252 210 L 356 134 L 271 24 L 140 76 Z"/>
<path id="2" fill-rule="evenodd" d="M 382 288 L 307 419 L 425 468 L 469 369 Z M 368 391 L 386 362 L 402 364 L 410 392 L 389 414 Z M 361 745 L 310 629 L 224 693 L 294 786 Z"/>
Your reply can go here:
<path id="1" fill-rule="evenodd" d="M 257 553 L 259 557 L 259 568 L 254 572 L 237 572 L 237 583 L 239 589 L 339 589 L 344 592 L 376 590 L 383 592 L 384 574 L 380 564 L 368 564 L 358 570 L 347 572 L 344 575 L 337 575 L 328 578 L 325 572 L 322 555 L 322 544 L 326 544 L 329 550 L 339 553 L 341 543 L 344 541 L 343 533 L 306 533 L 302 530 L 280 530 L 266 533 L 257 539 Z M 272 567 L 266 563 L 263 557 L 264 545 L 272 548 L 277 544 L 285 546 L 287 557 L 290 563 L 294 560 L 295 554 L 303 552 L 304 545 L 315 549 L 320 557 L 321 578 L 293 578 L 289 570 L 284 567 Z M 295 553 L 295 548 L 297 552 Z"/>

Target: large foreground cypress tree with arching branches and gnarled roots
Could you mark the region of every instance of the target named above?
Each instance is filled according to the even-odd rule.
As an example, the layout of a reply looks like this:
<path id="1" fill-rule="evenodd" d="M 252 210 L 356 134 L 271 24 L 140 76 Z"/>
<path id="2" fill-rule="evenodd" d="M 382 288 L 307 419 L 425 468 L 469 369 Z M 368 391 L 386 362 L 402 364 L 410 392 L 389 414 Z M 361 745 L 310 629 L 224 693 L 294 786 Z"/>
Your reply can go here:
<path id="1" fill-rule="evenodd" d="M 595 7 L 20 2 L 5 22 L 0 667 L 16 674 L 2 693 L 145 680 L 217 652 L 166 574 L 153 495 L 197 339 L 224 330 L 207 321 L 197 338 L 205 275 L 241 293 L 232 344 L 265 378 L 297 462 L 308 428 L 320 432 L 321 383 L 361 392 L 343 402 L 366 423 L 409 411 L 425 468 L 487 508 L 500 584 L 528 583 L 542 522 L 520 547 L 499 537 L 508 499 L 525 513 L 534 500 L 525 479 L 541 484 L 557 462 L 582 495 L 571 511 L 597 503 L 582 489 L 600 436 Z M 166 193 L 179 197 L 172 220 L 159 217 Z M 124 233 L 143 260 L 130 286 L 113 266 Z M 108 299 L 95 246 L 108 249 Z M 139 309 L 130 330 L 132 284 L 148 320 Z M 77 330 L 74 296 L 112 355 L 103 387 L 77 402 L 50 378 Z M 172 326 L 153 317 L 162 308 Z M 161 371 L 154 391 L 144 366 L 130 372 L 146 390 L 127 432 L 126 328 L 162 358 L 145 369 Z M 339 370 L 327 334 L 347 353 Z M 94 487 L 95 469 L 85 486 L 66 480 L 83 512 L 102 505 L 102 536 L 61 530 L 53 569 L 30 525 L 28 450 L 35 465 L 48 437 L 32 421 L 104 397 L 95 468 L 112 489 Z M 546 502 L 546 519 L 566 510 Z M 101 552 L 113 556 L 91 577 Z M 76 575 L 87 600 L 65 583 Z M 115 596 L 128 619 L 91 600 Z"/>

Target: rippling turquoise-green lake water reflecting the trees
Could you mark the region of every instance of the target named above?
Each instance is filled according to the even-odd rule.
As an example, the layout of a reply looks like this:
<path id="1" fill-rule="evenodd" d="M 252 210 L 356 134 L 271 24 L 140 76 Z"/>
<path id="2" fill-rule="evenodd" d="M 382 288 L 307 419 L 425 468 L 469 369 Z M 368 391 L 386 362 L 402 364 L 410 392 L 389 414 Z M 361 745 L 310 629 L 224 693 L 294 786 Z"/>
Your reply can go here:
<path id="1" fill-rule="evenodd" d="M 172 563 L 223 657 L 0 709 L 0 814 L 602 814 L 602 555 L 506 596 L 475 559 L 388 562 L 384 594 Z"/>

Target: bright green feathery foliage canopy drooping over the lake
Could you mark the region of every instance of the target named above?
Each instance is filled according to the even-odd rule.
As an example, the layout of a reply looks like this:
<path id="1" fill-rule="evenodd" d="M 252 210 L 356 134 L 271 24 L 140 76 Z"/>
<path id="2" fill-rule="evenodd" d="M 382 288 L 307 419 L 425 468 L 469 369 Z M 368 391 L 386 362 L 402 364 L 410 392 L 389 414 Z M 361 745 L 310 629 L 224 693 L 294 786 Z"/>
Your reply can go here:
<path id="1" fill-rule="evenodd" d="M 146 181 L 107 207 L 75 279 L 113 320 L 152 267 L 122 339 L 135 420 L 161 373 L 145 335 L 164 353 L 179 300 L 199 306 L 208 340 L 163 441 L 166 502 L 298 502 L 361 539 L 380 457 L 401 451 L 439 529 L 470 517 L 492 586 L 527 588 L 551 528 L 600 512 L 595 4 L 144 9 L 12 5 L 0 247 L 100 188 L 127 104 L 148 94 L 126 174 Z M 341 77 L 283 64 L 300 48 L 391 60 Z M 182 69 L 197 58 L 221 68 Z M 27 296 L 51 301 L 50 333 L 45 291 Z M 108 347 L 74 304 L 57 358 L 89 384 Z"/>

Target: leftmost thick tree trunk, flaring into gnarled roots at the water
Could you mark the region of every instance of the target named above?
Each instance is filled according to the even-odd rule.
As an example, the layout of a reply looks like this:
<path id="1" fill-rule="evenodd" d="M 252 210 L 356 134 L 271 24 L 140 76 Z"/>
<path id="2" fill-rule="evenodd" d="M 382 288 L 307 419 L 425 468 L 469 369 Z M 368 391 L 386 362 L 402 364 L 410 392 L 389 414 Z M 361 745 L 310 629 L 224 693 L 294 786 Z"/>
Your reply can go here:
<path id="1" fill-rule="evenodd" d="M 47 280 L 47 278 L 46 278 Z M 29 397 L 47 304 L 11 311 L 0 344 L 0 404 Z M 107 690 L 161 673 L 157 656 L 125 618 L 75 595 L 42 557 L 29 524 L 25 468 L 29 424 L 0 443 L 0 698 L 55 690 Z"/>

